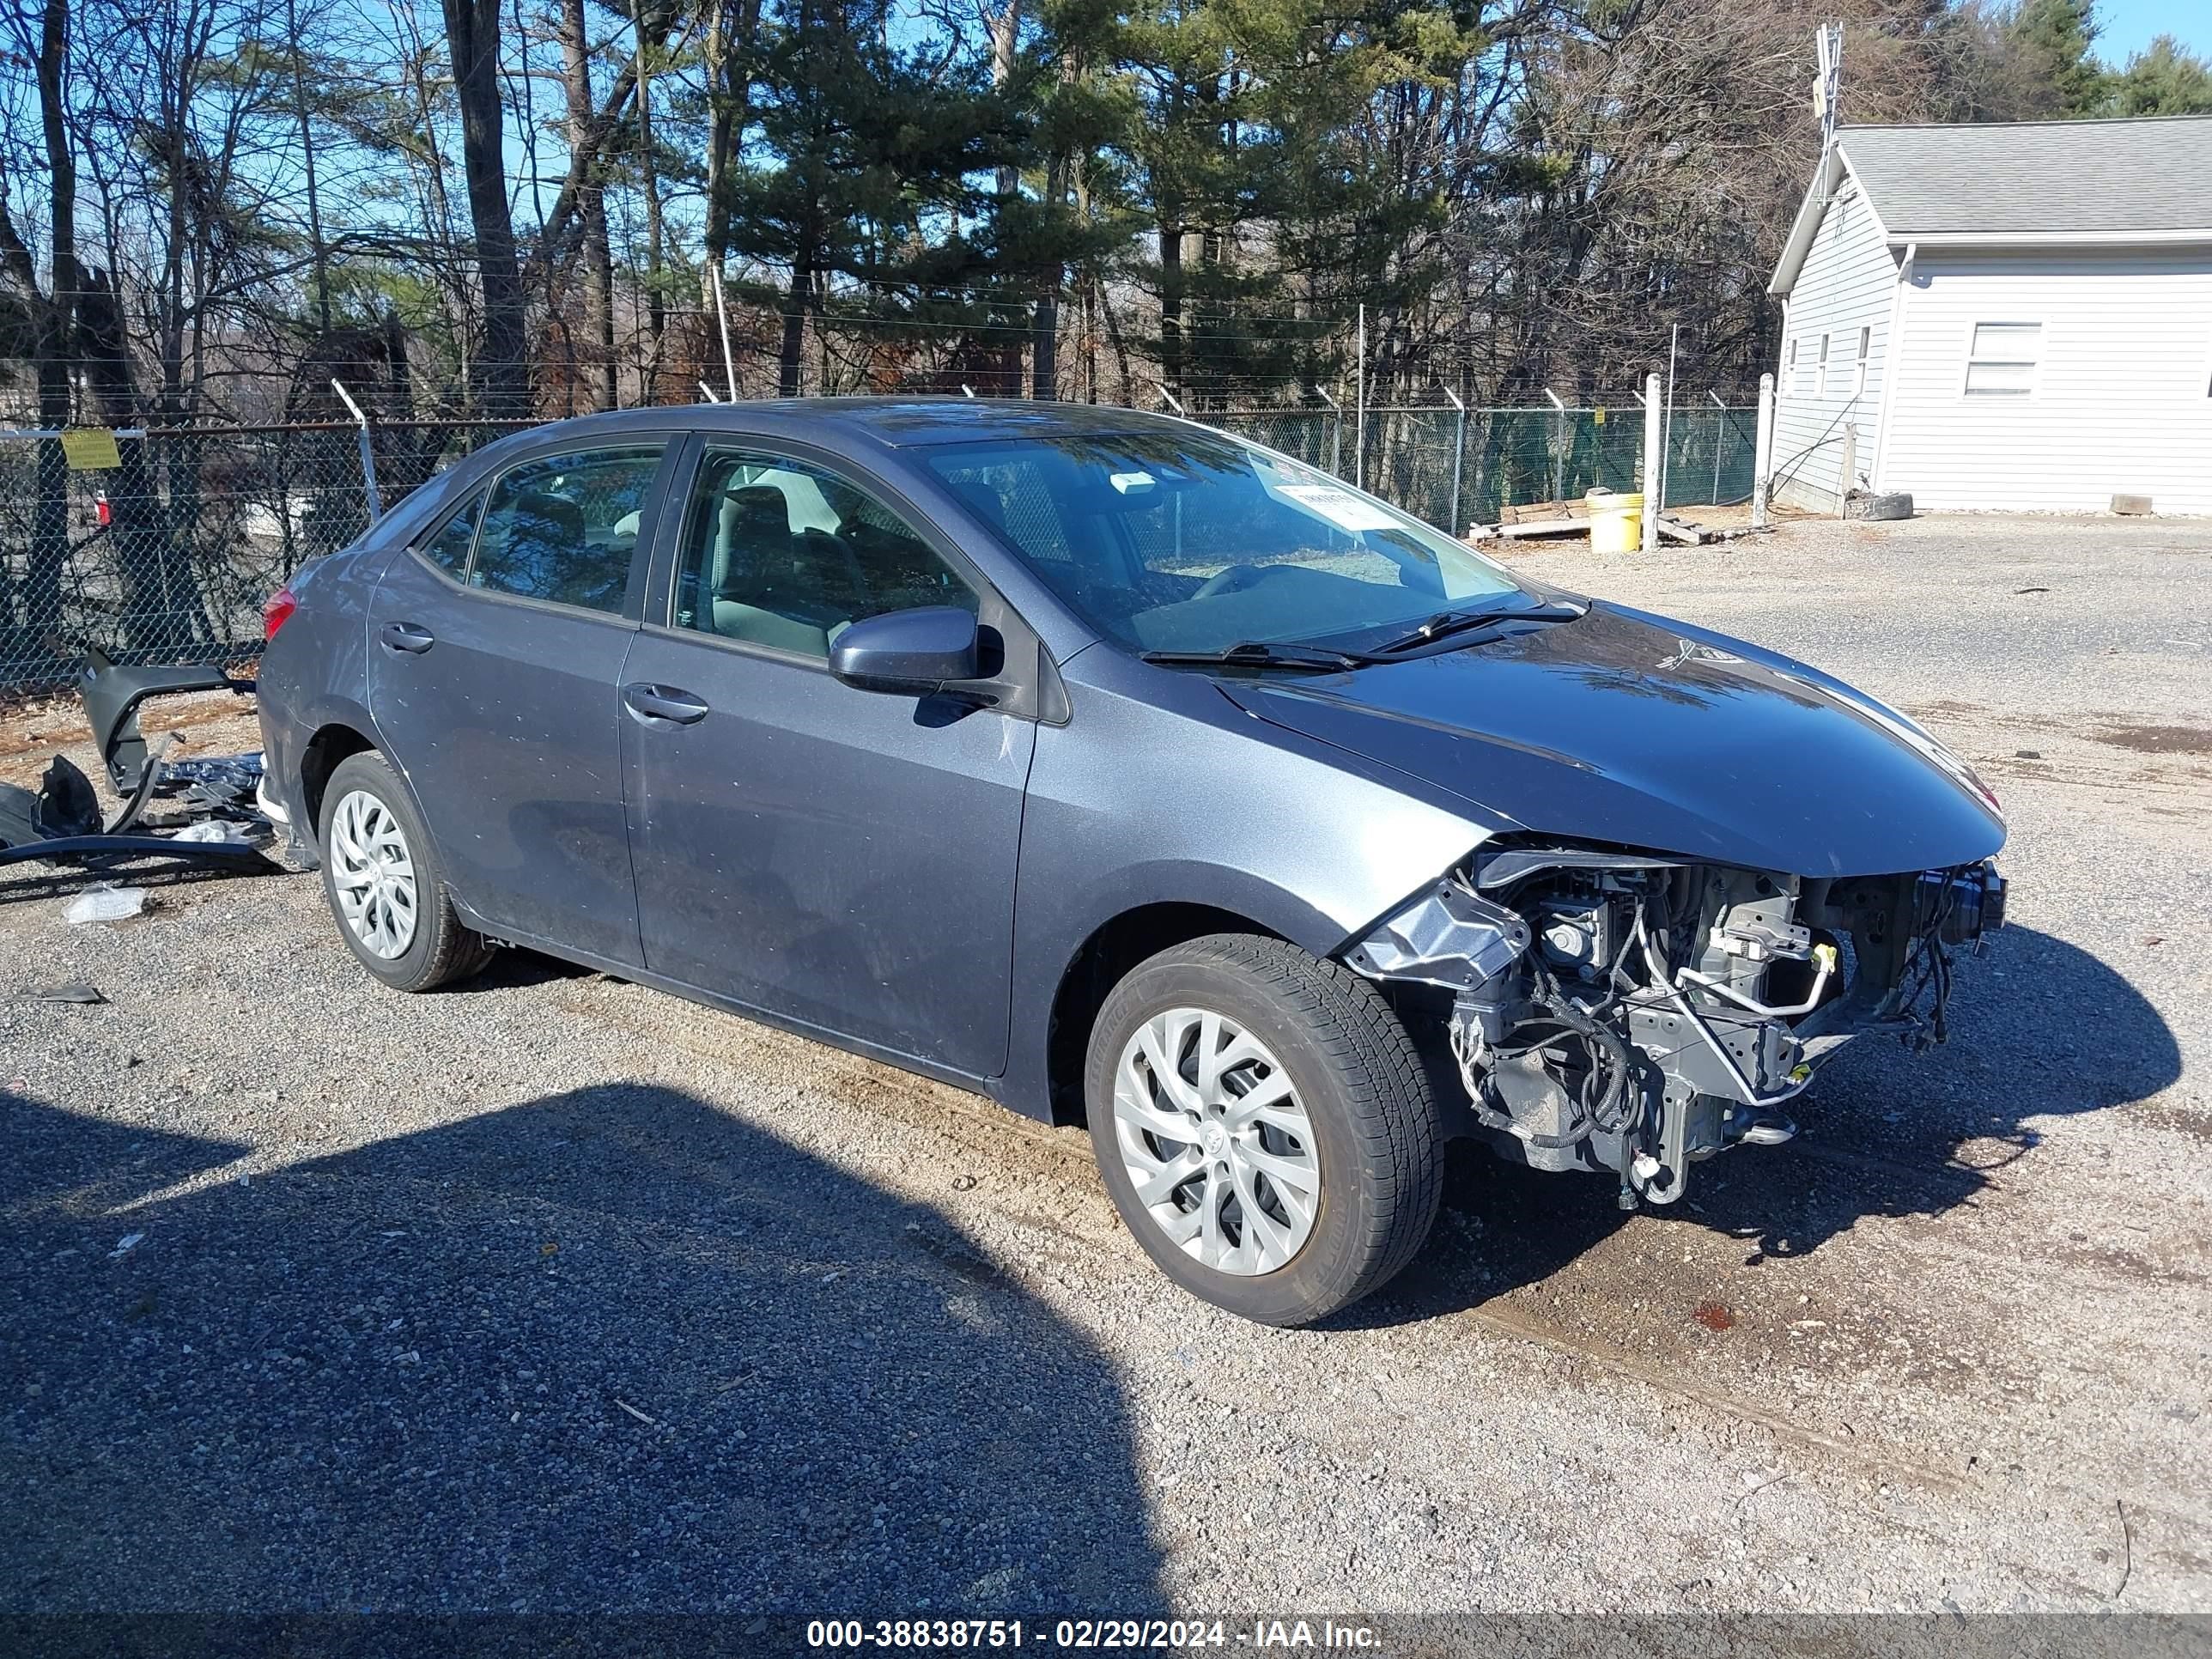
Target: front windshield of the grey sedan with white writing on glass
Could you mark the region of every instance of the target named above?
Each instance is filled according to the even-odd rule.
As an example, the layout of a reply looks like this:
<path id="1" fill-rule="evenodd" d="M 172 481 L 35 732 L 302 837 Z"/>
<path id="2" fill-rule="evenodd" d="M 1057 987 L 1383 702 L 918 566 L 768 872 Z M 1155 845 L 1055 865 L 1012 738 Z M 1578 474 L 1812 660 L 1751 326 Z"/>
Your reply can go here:
<path id="1" fill-rule="evenodd" d="M 1400 635 L 1515 577 L 1327 473 L 1206 431 L 949 445 L 929 467 L 1133 650 Z"/>

